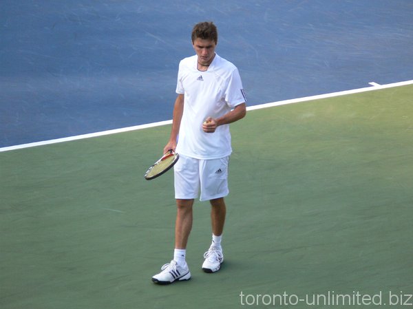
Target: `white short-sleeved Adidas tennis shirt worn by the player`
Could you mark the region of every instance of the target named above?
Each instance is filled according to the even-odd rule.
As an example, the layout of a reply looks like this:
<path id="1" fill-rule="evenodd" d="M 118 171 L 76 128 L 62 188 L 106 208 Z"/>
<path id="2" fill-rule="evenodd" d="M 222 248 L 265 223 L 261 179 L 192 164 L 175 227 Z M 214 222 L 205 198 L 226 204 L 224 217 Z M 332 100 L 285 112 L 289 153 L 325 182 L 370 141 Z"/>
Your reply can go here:
<path id="1" fill-rule="evenodd" d="M 229 125 L 205 133 L 202 123 L 208 116 L 219 118 L 246 103 L 237 67 L 215 54 L 208 70 L 199 71 L 197 55 L 184 58 L 179 64 L 176 93 L 184 94 L 176 152 L 197 159 L 229 156 L 232 152 Z"/>

